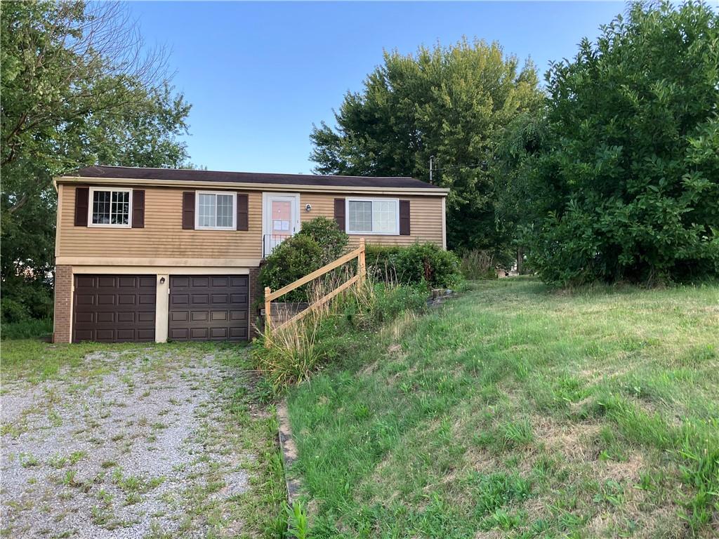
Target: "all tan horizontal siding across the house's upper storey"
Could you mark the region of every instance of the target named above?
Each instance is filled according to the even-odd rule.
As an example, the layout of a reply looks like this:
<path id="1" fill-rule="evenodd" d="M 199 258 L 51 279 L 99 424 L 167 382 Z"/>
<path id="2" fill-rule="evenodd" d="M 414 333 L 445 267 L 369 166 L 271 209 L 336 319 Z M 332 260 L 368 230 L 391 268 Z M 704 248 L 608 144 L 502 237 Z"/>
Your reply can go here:
<path id="1" fill-rule="evenodd" d="M 92 185 L 88 183 L 88 185 Z M 248 259 L 262 257 L 262 192 L 249 195 L 249 229 L 247 231 L 183 230 L 182 193 L 180 188 L 145 189 L 145 228 L 109 229 L 75 226 L 75 185 L 60 184 L 57 257 L 106 259 Z M 186 189 L 191 190 L 191 189 Z M 232 191 L 232 190 L 229 190 Z M 366 193 L 300 193 L 301 221 L 317 216 L 334 218 L 334 199 L 352 196 L 382 198 Z M 410 235 L 367 235 L 368 243 L 408 245 L 431 241 L 442 245 L 441 196 L 391 196 L 410 202 Z M 312 205 L 305 211 L 306 204 Z M 356 245 L 360 235 L 351 234 Z M 99 262 L 93 262 L 97 264 Z"/>

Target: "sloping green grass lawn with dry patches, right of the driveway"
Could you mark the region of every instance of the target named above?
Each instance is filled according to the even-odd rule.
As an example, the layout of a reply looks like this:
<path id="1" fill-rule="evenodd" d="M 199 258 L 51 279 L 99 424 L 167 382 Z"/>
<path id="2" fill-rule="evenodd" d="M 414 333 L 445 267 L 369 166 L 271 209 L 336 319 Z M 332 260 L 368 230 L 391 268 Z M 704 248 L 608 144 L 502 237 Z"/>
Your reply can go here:
<path id="1" fill-rule="evenodd" d="M 719 286 L 469 288 L 290 392 L 313 537 L 716 537 Z"/>

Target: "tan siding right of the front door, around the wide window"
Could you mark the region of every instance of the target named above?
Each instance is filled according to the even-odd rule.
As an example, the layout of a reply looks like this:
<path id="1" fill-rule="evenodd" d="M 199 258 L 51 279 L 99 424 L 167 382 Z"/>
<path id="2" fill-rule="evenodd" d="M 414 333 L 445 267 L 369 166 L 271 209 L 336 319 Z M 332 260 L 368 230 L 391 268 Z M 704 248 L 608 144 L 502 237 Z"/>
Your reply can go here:
<path id="1" fill-rule="evenodd" d="M 300 193 L 300 211 L 302 221 L 309 221 L 317 216 L 334 218 L 335 198 L 383 198 L 381 196 L 356 193 L 354 195 L 334 195 Z M 410 201 L 410 235 L 409 236 L 378 236 L 367 234 L 367 243 L 383 245 L 409 245 L 415 241 L 431 241 L 442 246 L 442 198 L 441 196 L 391 196 L 385 198 L 399 198 Z M 306 204 L 312 205 L 312 211 L 305 211 Z M 349 242 L 356 245 L 362 234 L 350 234 Z"/>

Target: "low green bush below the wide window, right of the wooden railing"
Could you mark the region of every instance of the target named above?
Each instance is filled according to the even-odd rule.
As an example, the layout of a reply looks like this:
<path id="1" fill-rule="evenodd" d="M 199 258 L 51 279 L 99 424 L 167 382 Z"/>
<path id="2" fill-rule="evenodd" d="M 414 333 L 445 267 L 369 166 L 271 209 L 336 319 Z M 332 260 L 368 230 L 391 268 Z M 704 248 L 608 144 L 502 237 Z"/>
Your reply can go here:
<path id="1" fill-rule="evenodd" d="M 410 247 L 367 246 L 367 271 L 375 280 L 403 285 L 426 282 L 431 288 L 452 288 L 462 282 L 459 259 L 435 244 Z"/>

